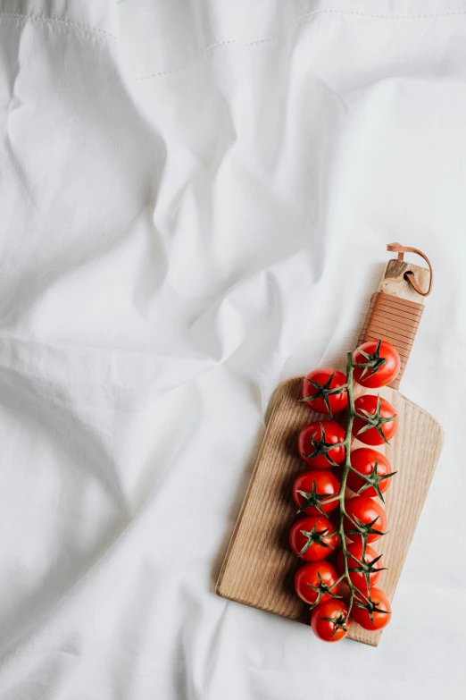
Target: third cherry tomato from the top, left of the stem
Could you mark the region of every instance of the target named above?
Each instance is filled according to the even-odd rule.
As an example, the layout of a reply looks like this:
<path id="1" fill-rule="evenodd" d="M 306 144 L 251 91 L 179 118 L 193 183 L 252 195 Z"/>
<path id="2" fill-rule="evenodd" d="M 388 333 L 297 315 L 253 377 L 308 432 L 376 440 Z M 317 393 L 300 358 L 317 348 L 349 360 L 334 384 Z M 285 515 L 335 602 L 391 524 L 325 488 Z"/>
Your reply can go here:
<path id="1" fill-rule="evenodd" d="M 337 508 L 338 501 L 326 501 L 337 495 L 340 482 L 328 469 L 304 471 L 296 477 L 293 484 L 293 501 L 298 507 L 298 513 L 306 515 L 325 515 Z"/>

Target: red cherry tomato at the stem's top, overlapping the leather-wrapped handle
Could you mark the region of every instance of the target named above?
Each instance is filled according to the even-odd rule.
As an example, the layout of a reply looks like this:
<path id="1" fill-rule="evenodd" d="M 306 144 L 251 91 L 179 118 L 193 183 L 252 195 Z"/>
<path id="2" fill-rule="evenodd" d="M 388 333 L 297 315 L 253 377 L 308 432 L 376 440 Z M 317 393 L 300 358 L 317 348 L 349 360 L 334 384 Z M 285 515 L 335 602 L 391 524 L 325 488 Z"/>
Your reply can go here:
<path id="1" fill-rule="evenodd" d="M 401 360 L 395 346 L 387 341 L 363 342 L 353 353 L 354 379 L 362 386 L 378 389 L 393 382 L 400 371 Z"/>

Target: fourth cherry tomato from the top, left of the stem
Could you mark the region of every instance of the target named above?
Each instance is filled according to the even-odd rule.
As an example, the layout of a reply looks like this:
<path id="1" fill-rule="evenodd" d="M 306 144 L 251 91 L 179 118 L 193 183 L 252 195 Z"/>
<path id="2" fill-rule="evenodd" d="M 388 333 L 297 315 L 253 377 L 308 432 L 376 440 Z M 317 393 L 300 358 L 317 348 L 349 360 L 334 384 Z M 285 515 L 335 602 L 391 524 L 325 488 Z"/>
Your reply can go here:
<path id="1" fill-rule="evenodd" d="M 326 559 L 337 546 L 335 527 L 323 515 L 296 520 L 289 532 L 289 544 L 304 561 Z"/>

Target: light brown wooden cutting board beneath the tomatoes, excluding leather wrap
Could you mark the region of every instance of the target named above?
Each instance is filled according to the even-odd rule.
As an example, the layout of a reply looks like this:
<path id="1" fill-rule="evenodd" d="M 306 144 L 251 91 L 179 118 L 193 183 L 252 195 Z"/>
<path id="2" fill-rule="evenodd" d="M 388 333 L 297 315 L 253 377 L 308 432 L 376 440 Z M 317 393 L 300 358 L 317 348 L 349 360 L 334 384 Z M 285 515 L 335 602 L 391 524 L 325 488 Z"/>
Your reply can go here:
<path id="1" fill-rule="evenodd" d="M 404 280 L 407 270 L 414 272 L 420 286 L 429 275 L 422 267 L 391 260 L 379 291 L 422 303 L 422 297 Z M 368 323 L 364 328 L 367 326 Z M 397 331 L 392 328 L 385 336 L 380 333 L 379 337 L 396 345 L 394 333 L 396 335 Z M 405 353 L 404 365 L 408 355 L 409 352 Z M 322 419 L 322 415 L 313 413 L 299 401 L 302 383 L 303 377 L 289 379 L 275 392 L 269 426 L 216 592 L 237 603 L 309 624 L 309 606 L 295 595 L 293 585 L 295 570 L 303 562 L 291 552 L 288 533 L 296 518 L 291 488 L 297 474 L 306 469 L 297 455 L 297 434 L 307 423 Z M 435 418 L 393 387 L 379 390 L 360 387 L 359 391 L 355 390 L 356 395 L 377 392 L 395 406 L 399 419 L 391 443 L 378 448 L 387 455 L 397 474 L 385 493 L 389 532 L 373 543 L 375 549 L 383 553 L 383 565 L 387 567 L 378 586 L 392 600 L 437 465 L 444 434 Z M 354 439 L 352 449 L 361 446 L 362 443 Z M 396 624 L 396 607 L 393 618 L 392 624 Z M 381 631 L 369 632 L 356 624 L 351 626 L 348 634 L 350 639 L 372 646 L 379 644 L 380 636 Z"/>

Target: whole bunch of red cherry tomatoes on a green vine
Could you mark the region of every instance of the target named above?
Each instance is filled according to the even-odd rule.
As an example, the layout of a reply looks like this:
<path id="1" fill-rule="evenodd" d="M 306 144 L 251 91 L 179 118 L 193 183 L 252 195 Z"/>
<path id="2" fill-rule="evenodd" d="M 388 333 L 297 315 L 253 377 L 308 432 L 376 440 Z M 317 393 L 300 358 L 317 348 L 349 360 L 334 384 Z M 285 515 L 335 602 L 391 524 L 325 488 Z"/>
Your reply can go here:
<path id="1" fill-rule="evenodd" d="M 385 534 L 384 493 L 395 472 L 374 447 L 388 443 L 398 418 L 377 394 L 354 400 L 353 380 L 377 389 L 393 382 L 399 369 L 398 351 L 379 340 L 348 353 L 346 375 L 320 367 L 304 378 L 302 401 L 329 419 L 304 426 L 298 436 L 299 456 L 309 469 L 293 485 L 299 519 L 289 543 L 306 562 L 296 571 L 295 591 L 311 606 L 314 633 L 327 642 L 345 637 L 352 620 L 377 630 L 391 617 L 387 595 L 376 586 L 382 555 L 371 545 Z M 332 420 L 344 410 L 345 429 Z M 350 451 L 352 437 L 368 446 Z M 347 497 L 346 487 L 353 496 Z"/>

